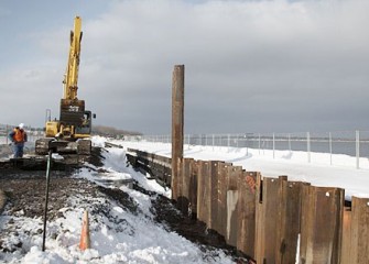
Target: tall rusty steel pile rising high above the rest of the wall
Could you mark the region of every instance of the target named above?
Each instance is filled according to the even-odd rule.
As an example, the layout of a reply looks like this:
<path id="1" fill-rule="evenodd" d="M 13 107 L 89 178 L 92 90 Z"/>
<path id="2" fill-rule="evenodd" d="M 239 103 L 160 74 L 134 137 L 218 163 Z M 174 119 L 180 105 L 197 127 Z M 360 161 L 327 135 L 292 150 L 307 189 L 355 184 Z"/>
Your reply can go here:
<path id="1" fill-rule="evenodd" d="M 175 65 L 172 80 L 172 199 L 178 197 L 178 160 L 183 158 L 184 65 Z"/>

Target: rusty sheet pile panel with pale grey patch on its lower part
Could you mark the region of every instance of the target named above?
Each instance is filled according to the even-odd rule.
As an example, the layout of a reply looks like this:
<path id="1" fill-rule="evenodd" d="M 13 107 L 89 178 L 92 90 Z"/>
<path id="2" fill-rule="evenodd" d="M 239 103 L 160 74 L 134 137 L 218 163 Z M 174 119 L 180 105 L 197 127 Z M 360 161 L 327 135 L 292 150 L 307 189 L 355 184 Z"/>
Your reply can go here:
<path id="1" fill-rule="evenodd" d="M 227 235 L 226 242 L 229 245 L 237 246 L 237 204 L 238 204 L 238 178 L 242 174 L 241 166 L 228 167 L 228 187 L 227 187 Z"/>

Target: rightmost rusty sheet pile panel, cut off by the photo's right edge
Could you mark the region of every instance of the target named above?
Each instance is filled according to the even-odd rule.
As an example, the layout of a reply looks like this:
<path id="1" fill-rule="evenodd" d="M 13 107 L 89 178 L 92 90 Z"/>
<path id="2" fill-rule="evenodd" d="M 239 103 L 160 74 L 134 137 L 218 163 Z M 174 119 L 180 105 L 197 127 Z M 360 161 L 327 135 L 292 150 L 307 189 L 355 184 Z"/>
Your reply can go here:
<path id="1" fill-rule="evenodd" d="M 369 263 L 369 199 L 352 197 L 351 262 Z"/>

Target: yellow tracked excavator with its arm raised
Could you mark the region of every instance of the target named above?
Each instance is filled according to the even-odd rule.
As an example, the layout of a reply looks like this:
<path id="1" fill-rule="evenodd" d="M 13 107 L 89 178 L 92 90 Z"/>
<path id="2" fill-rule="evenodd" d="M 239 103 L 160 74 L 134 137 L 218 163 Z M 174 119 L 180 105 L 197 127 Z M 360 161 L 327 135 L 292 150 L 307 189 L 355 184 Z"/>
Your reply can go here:
<path id="1" fill-rule="evenodd" d="M 64 75 L 64 92 L 61 100 L 59 120 L 46 121 L 45 138 L 35 142 L 35 153 L 48 153 L 50 142 L 54 152 L 77 153 L 89 155 L 91 152 L 91 119 L 96 118 L 91 111 L 85 110 L 85 101 L 77 98 L 78 69 L 82 41 L 82 19 L 74 20 L 74 31 L 70 31 L 69 57 Z M 56 144 L 55 144 L 56 142 Z"/>

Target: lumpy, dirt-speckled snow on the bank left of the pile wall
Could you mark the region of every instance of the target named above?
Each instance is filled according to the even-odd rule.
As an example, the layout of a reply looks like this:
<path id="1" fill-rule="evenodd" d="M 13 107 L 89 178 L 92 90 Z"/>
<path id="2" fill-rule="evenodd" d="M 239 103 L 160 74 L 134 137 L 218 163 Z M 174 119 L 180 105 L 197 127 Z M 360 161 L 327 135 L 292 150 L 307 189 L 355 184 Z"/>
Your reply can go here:
<path id="1" fill-rule="evenodd" d="M 104 146 L 105 141 L 104 138 L 94 138 L 96 145 Z M 148 190 L 171 196 L 170 190 L 127 166 L 124 153 L 123 148 L 108 148 L 104 153 L 106 160 L 101 168 L 84 168 L 74 177 L 83 177 L 99 185 L 104 185 L 104 179 L 133 178 Z M 131 213 L 113 200 L 70 194 L 69 205 L 59 210 L 63 217 L 47 223 L 45 252 L 42 251 L 42 234 L 36 232 L 42 229 L 41 217 L 30 219 L 23 217 L 22 212 L 18 216 L 1 215 L 0 230 L 17 229 L 9 237 L 1 238 L 3 246 L 7 243 L 17 244 L 20 240 L 22 246 L 13 253 L 0 252 L 0 263 L 234 263 L 223 251 L 204 252 L 198 245 L 155 223 L 150 211 L 149 196 L 126 186 L 120 189 L 139 205 L 139 213 Z M 82 252 L 78 244 L 84 210 L 97 211 L 101 206 L 108 208 L 109 217 L 104 213 L 89 215 L 91 249 Z"/>

